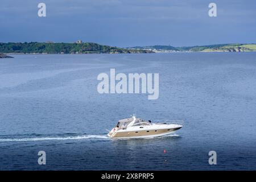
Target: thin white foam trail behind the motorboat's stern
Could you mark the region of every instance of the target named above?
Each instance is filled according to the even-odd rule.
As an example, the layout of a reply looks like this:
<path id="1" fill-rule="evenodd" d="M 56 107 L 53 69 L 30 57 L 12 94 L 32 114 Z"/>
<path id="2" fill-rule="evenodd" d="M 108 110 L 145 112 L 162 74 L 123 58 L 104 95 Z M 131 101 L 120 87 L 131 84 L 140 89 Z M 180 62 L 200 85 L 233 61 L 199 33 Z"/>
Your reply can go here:
<path id="1" fill-rule="evenodd" d="M 79 140 L 79 139 L 108 139 L 106 135 L 82 135 L 73 137 L 38 137 L 38 138 L 0 138 L 0 142 L 33 142 L 42 140 Z"/>

